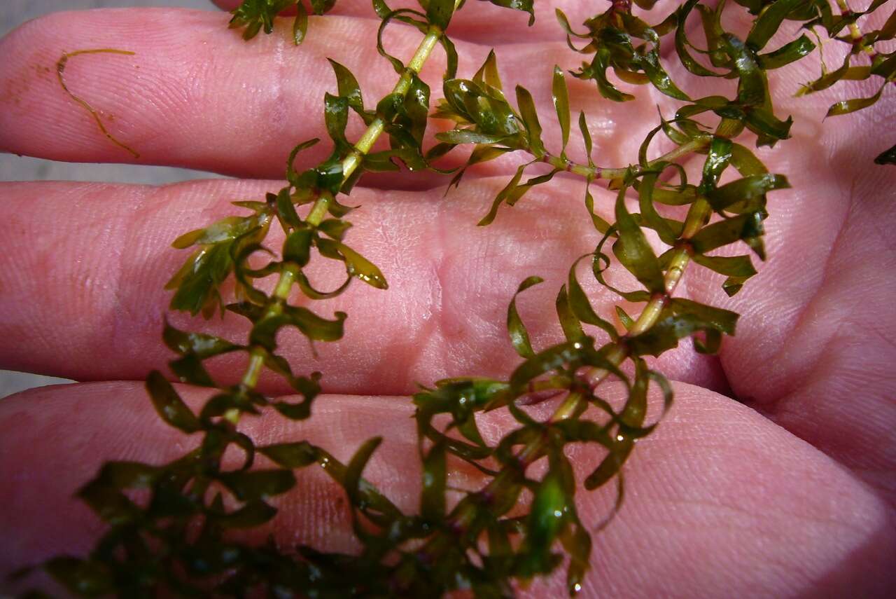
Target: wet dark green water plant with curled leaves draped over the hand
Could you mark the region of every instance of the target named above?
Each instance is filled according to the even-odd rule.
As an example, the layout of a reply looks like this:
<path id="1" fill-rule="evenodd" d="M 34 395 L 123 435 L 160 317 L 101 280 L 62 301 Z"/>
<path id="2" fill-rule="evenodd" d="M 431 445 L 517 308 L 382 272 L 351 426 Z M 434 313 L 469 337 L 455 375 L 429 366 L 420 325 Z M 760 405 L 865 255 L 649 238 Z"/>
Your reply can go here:
<path id="1" fill-rule="evenodd" d="M 530 0 L 490 1 L 533 13 Z M 234 11 L 231 25 L 245 28 L 244 37 L 251 39 L 259 30 L 270 32 L 275 15 L 293 4 L 298 10 L 296 41 L 300 42 L 306 35 L 307 11 L 294 0 L 245 0 Z M 311 9 L 323 14 L 333 4 L 332 0 L 312 1 Z M 631 3 L 614 2 L 605 13 L 586 21 L 579 32 L 558 12 L 571 47 L 589 57 L 573 76 L 595 82 L 607 100 L 633 97 L 620 89 L 622 83 L 610 80 L 612 71 L 626 85 L 650 84 L 682 102 L 676 114 L 660 117 L 642 143 L 637 161 L 603 168 L 591 159 L 591 136 L 583 114 L 578 126 L 587 161 L 577 164 L 567 157 L 573 115 L 561 69 L 555 69 L 551 82 L 561 147 L 551 152 L 542 139 L 539 118 L 545 115 L 538 116 L 524 88 L 517 86 L 513 98 L 505 95 L 494 53 L 472 79 L 456 77 L 457 54 L 444 30 L 461 0 L 421 0 L 420 10 L 392 10 L 383 0 L 373 4 L 382 19 L 378 50 L 400 74 L 394 91 L 375 106 L 366 105 L 355 76 L 331 61 L 337 93 L 328 93 L 323 100 L 332 142 L 330 156 L 314 168 L 297 171 L 297 153 L 319 140 L 299 143 L 289 156 L 287 185 L 279 192 L 259 201 L 235 202 L 250 213 L 175 240 L 175 247 L 194 247 L 194 251 L 168 282 L 174 290 L 171 308 L 194 315 L 201 312 L 205 317 L 232 311 L 251 321 L 251 331 L 245 343 L 236 343 L 166 325 L 164 342 L 177 354 L 170 362 L 175 378 L 214 392 L 196 412 L 158 371 L 151 373 L 146 388 L 159 417 L 197 436 L 198 446 L 168 464 L 108 462 L 82 487 L 79 497 L 108 524 L 108 532 L 87 558 L 63 556 L 43 564 L 71 593 L 150 597 L 164 590 L 183 596 L 262 592 L 278 597 L 379 597 L 440 596 L 453 589 L 469 589 L 478 597 L 499 597 L 513 595 L 516 581 L 547 575 L 564 563 L 568 588 L 575 593 L 589 569 L 594 530 L 582 523 L 576 511 L 580 482 L 565 449 L 572 444 L 600 448 L 603 457 L 590 464 L 581 484 L 593 490 L 616 482 L 615 513 L 623 499 L 625 461 L 635 441 L 649 435 L 662 416 L 648 418 L 650 389 L 663 398 L 662 413 L 672 402 L 668 381 L 648 368 L 644 357 L 659 356 L 685 337 L 693 338 L 698 352 L 716 352 L 723 335 L 735 334 L 737 314 L 675 297 L 682 273 L 691 263 L 708 268 L 723 275 L 722 288 L 733 295 L 755 273 L 749 252 L 764 259 L 766 195 L 788 187 L 788 182 L 782 175 L 769 173 L 745 144 L 734 139 L 745 130 L 756 135 L 757 145 L 788 138 L 791 119 L 776 115 L 766 72 L 814 49 L 806 35 L 767 50 L 769 40 L 783 22 L 793 21 L 807 30 L 822 28 L 831 39 L 850 44 L 844 65 L 806 84 L 805 92 L 824 89 L 840 79 L 882 79 L 874 98 L 844 100 L 831 108 L 831 115 L 872 104 L 894 76 L 894 57 L 874 50 L 874 44 L 893 38 L 896 19 L 891 17 L 881 30 L 865 34 L 857 30 L 860 17 L 883 5 L 880 0 L 866 13 L 840 15 L 831 13 L 824 0 L 737 0 L 755 15 L 745 39 L 723 29 L 720 16 L 729 10 L 724 2 L 711 8 L 688 0 L 652 25 L 633 14 Z M 635 4 L 650 8 L 653 3 L 636 0 Z M 702 22 L 706 48 L 696 48 L 687 37 L 684 23 L 692 13 Z M 441 43 L 448 56 L 444 100 L 432 115 L 429 86 L 418 76 L 426 54 L 418 51 L 407 65 L 389 55 L 383 48 L 382 31 L 391 22 L 416 27 L 427 39 Z M 573 40 L 581 42 L 581 48 Z M 673 82 L 662 65 L 661 42 L 674 45 L 674 56 L 691 74 L 735 82 L 733 97 L 692 99 L 682 82 Z M 854 65 L 861 55 L 868 56 L 871 65 Z M 355 145 L 345 135 L 352 114 L 369 127 L 369 135 Z M 452 119 L 456 127 L 437 135 L 440 143 L 425 148 L 429 116 Z M 708 123 L 708 118 L 714 123 Z M 389 149 L 370 152 L 380 133 L 387 135 Z M 657 135 L 665 135 L 675 149 L 649 160 L 650 143 Z M 368 440 L 343 464 L 325 448 L 305 440 L 258 446 L 238 430 L 238 422 L 244 414 L 254 416 L 269 408 L 289 419 L 307 419 L 321 393 L 319 373 L 297 375 L 277 353 L 277 335 L 284 327 L 295 327 L 311 342 L 333 342 L 342 336 L 347 315 L 322 316 L 289 305 L 293 286 L 308 300 L 339 295 L 355 278 L 379 289 L 387 287 L 383 273 L 347 245 L 351 225 L 344 217 L 350 208 L 337 197 L 348 194 L 363 172 L 396 170 L 401 165 L 439 170 L 433 162 L 460 144 L 472 144 L 473 149 L 452 184 L 461 180 L 464 169 L 480 162 L 509 152 L 530 155 L 480 224 L 493 221 L 501 206 L 513 206 L 532 187 L 565 171 L 585 179 L 585 206 L 602 239 L 593 252 L 572 265 L 557 294 L 563 343 L 534 348 L 514 295 L 507 328 L 521 356 L 520 365 L 504 379 L 446 379 L 414 395 L 422 492 L 418 513 L 406 514 L 363 477 L 382 439 Z M 705 156 L 700 179 L 694 182 L 677 162 L 692 153 Z M 892 163 L 893 150 L 883 152 L 878 161 Z M 523 181 L 525 171 L 539 164 L 547 164 L 547 172 Z M 723 183 L 727 174 L 734 176 L 725 177 Z M 607 179 L 609 187 L 617 190 L 612 223 L 594 212 L 589 188 L 596 179 Z M 636 212 L 626 202 L 629 197 L 637 204 Z M 297 208 L 306 205 L 311 207 L 303 218 Z M 686 209 L 670 212 L 670 206 Z M 279 254 L 263 246 L 274 221 L 286 233 Z M 645 230 L 656 234 L 665 251 L 654 250 Z M 719 256 L 716 252 L 741 242 L 748 253 Z M 267 256 L 266 264 L 250 265 L 254 256 Z M 312 259 L 343 263 L 345 282 L 335 290 L 319 291 L 305 272 Z M 640 316 L 630 317 L 621 307 L 616 308 L 618 324 L 599 316 L 579 282 L 577 266 L 582 260 L 590 262 L 590 273 L 599 284 L 628 302 L 643 304 Z M 607 282 L 605 273 L 614 260 L 632 274 L 637 286 L 617 289 Z M 272 293 L 255 286 L 257 279 L 275 274 L 279 282 Z M 226 303 L 221 287 L 231 279 L 236 298 Z M 517 292 L 541 282 L 532 276 L 521 282 Z M 232 352 L 248 354 L 250 367 L 241 383 L 221 386 L 203 362 Z M 301 401 L 274 400 L 256 391 L 262 367 L 285 378 Z M 609 402 L 600 392 L 599 382 L 611 376 L 625 389 L 621 403 Z M 559 407 L 547 421 L 534 420 L 521 407 L 521 399 L 540 392 L 561 395 Z M 478 429 L 478 415 L 495 409 L 510 412 L 517 426 L 489 444 Z M 225 467 L 223 456 L 231 447 L 242 456 L 241 464 Z M 273 465 L 254 467 L 259 454 Z M 485 482 L 456 499 L 458 491 L 449 489 L 447 481 L 460 462 L 475 467 Z M 536 463 L 546 467 L 530 468 Z M 293 490 L 294 472 L 312 465 L 322 467 L 344 489 L 361 547 L 357 554 L 233 540 L 228 534 L 233 529 L 270 523 L 277 514 L 271 498 Z M 528 508 L 518 505 L 523 497 L 530 498 Z"/>

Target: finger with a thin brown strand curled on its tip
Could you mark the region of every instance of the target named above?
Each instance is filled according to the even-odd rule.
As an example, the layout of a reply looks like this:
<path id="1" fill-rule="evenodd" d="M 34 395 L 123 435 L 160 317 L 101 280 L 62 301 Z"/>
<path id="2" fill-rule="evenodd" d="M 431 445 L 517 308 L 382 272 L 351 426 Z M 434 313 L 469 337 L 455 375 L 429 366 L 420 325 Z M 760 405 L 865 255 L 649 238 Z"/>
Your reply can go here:
<path id="1" fill-rule="evenodd" d="M 335 92 L 335 81 L 325 57 L 356 72 L 368 103 L 389 93 L 398 76 L 385 60 L 371 58 L 368 48 L 375 44 L 377 22 L 332 16 L 316 24 L 314 38 L 296 48 L 287 27 L 246 43 L 226 28 L 224 15 L 215 13 L 90 11 L 29 22 L 0 47 L 6 56 L 0 65 L 0 148 L 62 161 L 136 161 L 280 178 L 292 147 L 312 137 L 327 138 L 322 100 L 325 92 Z M 417 30 L 396 26 L 389 29 L 387 45 L 407 59 L 419 40 Z M 65 62 L 65 87 L 97 111 L 103 129 L 57 76 L 66 52 L 91 48 L 134 52 L 82 54 Z M 458 52 L 464 76 L 487 55 L 485 48 L 462 42 Z M 504 77 L 536 95 L 546 139 L 556 143 L 559 130 L 548 82 L 555 63 L 573 67 L 576 58 L 562 41 L 498 52 Z M 433 82 L 434 105 L 441 95 L 435 82 L 443 71 L 444 57 L 436 51 L 422 74 Z M 596 99 L 587 82 L 571 87 L 573 106 L 591 115 L 599 163 L 628 164 L 655 121 L 655 100 L 645 97 L 619 107 Z M 616 119 L 631 126 L 623 131 Z M 450 125 L 437 121 L 435 126 Z M 362 131 L 360 120 L 351 119 L 349 139 L 358 139 Z M 321 143 L 303 160 L 314 164 L 330 151 L 329 143 Z M 457 164 L 462 156 L 461 151 L 446 164 Z M 505 172 L 515 163 L 490 162 L 484 170 L 489 169 Z M 419 187 L 433 185 L 434 177 L 389 173 L 365 181 Z"/>

